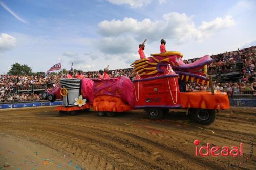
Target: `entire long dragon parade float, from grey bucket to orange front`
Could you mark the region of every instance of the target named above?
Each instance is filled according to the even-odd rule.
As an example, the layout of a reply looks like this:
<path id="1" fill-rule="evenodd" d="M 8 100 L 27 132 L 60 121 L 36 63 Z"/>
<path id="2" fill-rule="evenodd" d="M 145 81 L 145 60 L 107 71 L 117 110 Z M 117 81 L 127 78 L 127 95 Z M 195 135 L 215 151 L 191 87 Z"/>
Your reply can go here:
<path id="1" fill-rule="evenodd" d="M 60 86 L 45 93 L 51 102 L 62 99 L 61 114 L 77 114 L 90 107 L 99 116 L 144 109 L 151 119 L 160 119 L 169 109 L 180 109 L 201 124 L 211 124 L 216 111 L 229 109 L 228 96 L 220 91 L 186 91 L 186 82 L 210 85 L 207 66 L 210 56 L 185 64 L 180 52 L 167 51 L 136 60 L 131 66 L 136 77 L 109 79 L 62 79 Z M 202 71 L 203 70 L 203 71 Z M 80 84 L 79 84 L 80 83 Z M 211 87 L 212 89 L 212 87 Z"/>

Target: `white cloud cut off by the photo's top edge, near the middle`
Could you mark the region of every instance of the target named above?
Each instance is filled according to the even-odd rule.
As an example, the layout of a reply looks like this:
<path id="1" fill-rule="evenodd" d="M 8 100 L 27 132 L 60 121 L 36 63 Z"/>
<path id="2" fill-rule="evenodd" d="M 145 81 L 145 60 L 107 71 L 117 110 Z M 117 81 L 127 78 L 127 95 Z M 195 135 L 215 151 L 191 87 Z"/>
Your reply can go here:
<path id="1" fill-rule="evenodd" d="M 107 0 L 107 1 L 117 5 L 127 4 L 127 5 L 130 5 L 132 8 L 140 8 L 151 3 L 151 0 Z M 160 0 L 160 1 L 163 1 L 163 0 Z"/>

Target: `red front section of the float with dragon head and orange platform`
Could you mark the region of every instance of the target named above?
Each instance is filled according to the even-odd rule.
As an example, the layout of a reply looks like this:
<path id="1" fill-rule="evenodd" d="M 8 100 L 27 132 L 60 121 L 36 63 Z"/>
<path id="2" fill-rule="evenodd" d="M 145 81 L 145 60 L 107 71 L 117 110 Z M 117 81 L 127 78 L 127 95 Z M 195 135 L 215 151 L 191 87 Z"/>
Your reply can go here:
<path id="1" fill-rule="evenodd" d="M 187 92 L 186 82 L 209 87 L 207 66 L 213 60 L 205 55 L 185 64 L 182 57 L 180 52 L 167 51 L 131 64 L 136 72 L 135 108 L 145 109 L 151 119 L 159 119 L 169 109 L 179 108 L 196 122 L 211 124 L 217 110 L 229 109 L 227 94 L 213 90 Z"/>

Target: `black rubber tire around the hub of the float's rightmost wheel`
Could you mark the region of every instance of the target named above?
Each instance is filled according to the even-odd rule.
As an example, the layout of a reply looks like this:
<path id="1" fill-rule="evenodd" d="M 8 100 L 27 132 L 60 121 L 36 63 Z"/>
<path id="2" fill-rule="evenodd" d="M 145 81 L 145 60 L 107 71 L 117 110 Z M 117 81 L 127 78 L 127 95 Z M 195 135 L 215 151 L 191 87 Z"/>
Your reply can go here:
<path id="1" fill-rule="evenodd" d="M 209 117 L 206 120 L 200 119 L 200 117 L 197 116 L 197 114 L 202 111 L 206 114 L 209 114 Z M 192 109 L 190 118 L 199 124 L 210 125 L 216 118 L 216 111 L 211 109 Z"/>

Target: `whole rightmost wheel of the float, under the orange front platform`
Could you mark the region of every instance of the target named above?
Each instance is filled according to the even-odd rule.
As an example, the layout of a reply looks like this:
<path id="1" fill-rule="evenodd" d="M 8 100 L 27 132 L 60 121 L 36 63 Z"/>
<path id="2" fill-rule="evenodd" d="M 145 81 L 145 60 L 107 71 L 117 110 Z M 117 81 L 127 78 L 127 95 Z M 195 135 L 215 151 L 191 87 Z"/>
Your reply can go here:
<path id="1" fill-rule="evenodd" d="M 214 122 L 216 111 L 210 109 L 193 109 L 191 110 L 191 119 L 197 123 L 210 125 Z"/>

